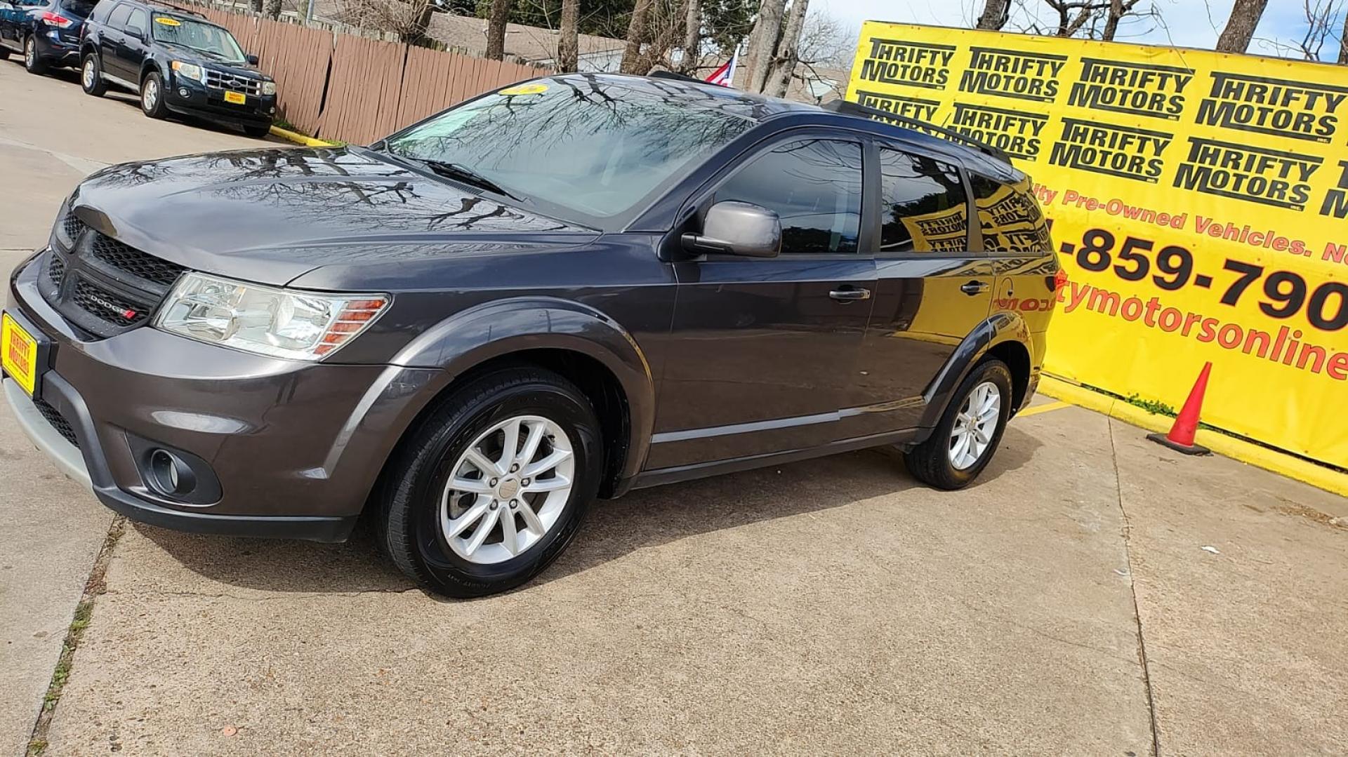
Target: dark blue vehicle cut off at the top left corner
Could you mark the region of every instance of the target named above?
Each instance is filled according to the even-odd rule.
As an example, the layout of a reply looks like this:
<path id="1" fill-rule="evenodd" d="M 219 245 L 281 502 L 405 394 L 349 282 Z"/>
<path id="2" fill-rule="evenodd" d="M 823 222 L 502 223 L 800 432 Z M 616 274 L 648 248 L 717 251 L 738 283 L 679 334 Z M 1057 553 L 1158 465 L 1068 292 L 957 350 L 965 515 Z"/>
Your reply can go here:
<path id="1" fill-rule="evenodd" d="M 80 31 L 96 0 L 0 0 L 0 61 L 23 55 L 30 74 L 80 65 Z"/>

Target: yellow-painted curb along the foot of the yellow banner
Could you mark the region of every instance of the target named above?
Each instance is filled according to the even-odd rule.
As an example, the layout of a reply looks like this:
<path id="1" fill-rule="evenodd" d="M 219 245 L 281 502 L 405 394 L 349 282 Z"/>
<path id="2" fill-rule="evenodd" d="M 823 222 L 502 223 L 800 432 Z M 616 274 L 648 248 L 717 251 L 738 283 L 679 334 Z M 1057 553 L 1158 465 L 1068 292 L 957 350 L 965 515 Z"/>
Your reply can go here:
<path id="1" fill-rule="evenodd" d="M 1042 376 L 1039 378 L 1039 392 L 1057 400 L 1103 412 L 1109 418 L 1139 426 L 1147 431 L 1169 431 L 1173 423 L 1169 416 L 1154 415 L 1122 399 L 1086 389 L 1085 387 L 1078 387 L 1053 376 Z M 1325 492 L 1348 497 L 1348 473 L 1339 473 L 1337 470 L 1306 462 L 1298 457 L 1206 428 L 1198 430 L 1196 442 L 1220 455 L 1271 470 L 1287 478 L 1304 481 Z"/>

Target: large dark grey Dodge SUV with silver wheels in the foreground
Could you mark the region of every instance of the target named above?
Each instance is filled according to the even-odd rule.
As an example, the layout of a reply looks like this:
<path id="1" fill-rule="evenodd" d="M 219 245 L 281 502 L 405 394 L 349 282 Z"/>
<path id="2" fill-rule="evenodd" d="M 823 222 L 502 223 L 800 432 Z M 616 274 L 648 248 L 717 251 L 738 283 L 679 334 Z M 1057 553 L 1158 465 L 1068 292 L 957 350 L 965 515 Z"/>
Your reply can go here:
<path id="1" fill-rule="evenodd" d="M 479 595 L 596 494 L 880 445 L 969 484 L 1034 392 L 1051 246 L 991 150 L 561 75 L 368 148 L 98 171 L 11 277 L 4 391 L 132 519 L 333 541 L 367 512 Z"/>

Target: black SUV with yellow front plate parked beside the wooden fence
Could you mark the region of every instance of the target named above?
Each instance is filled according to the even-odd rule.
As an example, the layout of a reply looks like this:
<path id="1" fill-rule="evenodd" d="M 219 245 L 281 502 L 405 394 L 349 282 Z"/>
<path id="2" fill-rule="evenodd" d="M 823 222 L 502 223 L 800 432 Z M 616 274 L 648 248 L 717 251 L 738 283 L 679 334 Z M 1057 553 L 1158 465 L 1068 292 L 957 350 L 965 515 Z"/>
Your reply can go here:
<path id="1" fill-rule="evenodd" d="M 102 0 L 85 23 L 80 48 L 85 93 L 101 97 L 109 82 L 129 89 L 151 119 L 197 116 L 259 137 L 276 116 L 276 82 L 257 70 L 257 57 L 197 13 Z"/>

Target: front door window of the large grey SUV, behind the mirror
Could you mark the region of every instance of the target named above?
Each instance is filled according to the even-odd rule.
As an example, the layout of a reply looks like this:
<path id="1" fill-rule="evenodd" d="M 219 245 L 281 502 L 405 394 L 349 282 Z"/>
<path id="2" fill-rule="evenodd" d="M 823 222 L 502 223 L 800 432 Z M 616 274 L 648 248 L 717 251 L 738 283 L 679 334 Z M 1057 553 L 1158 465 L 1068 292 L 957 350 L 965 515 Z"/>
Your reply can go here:
<path id="1" fill-rule="evenodd" d="M 856 252 L 861 234 L 861 145 L 809 139 L 752 158 L 716 201 L 739 199 L 782 218 L 783 253 Z"/>

